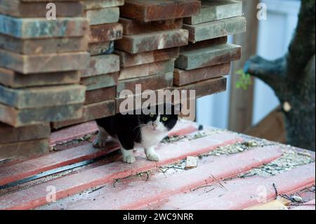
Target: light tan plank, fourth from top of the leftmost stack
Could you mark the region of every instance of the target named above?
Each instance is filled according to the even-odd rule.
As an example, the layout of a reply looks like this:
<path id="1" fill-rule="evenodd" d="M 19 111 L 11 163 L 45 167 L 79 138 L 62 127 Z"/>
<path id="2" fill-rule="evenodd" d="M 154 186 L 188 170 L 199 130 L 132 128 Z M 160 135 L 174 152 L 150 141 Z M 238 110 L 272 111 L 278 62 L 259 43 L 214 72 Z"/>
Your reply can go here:
<path id="1" fill-rule="evenodd" d="M 22 74 L 84 70 L 89 58 L 87 52 L 21 55 L 0 49 L 0 67 Z"/>

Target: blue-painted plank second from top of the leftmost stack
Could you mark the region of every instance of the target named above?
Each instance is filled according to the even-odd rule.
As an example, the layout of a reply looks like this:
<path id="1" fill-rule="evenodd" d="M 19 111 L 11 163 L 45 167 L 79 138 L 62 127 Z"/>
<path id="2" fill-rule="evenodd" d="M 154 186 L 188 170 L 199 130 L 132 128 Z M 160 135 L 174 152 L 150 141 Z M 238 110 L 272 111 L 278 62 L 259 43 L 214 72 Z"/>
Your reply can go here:
<path id="1" fill-rule="evenodd" d="M 0 34 L 20 39 L 83 37 L 88 33 L 86 18 L 13 18 L 0 14 Z"/>

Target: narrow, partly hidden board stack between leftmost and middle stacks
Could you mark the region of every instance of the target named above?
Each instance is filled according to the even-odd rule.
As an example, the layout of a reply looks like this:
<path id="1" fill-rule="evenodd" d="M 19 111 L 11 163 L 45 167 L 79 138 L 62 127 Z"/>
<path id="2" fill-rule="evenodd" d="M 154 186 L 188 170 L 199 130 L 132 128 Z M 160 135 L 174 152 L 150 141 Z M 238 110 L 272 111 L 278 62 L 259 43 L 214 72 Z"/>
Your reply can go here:
<path id="1" fill-rule="evenodd" d="M 121 39 L 123 33 L 119 6 L 124 5 L 124 0 L 87 0 L 82 3 L 90 25 L 88 52 L 91 54 L 88 68 L 81 74 L 81 84 L 86 86 L 83 117 L 53 122 L 53 129 L 115 114 L 119 56 L 113 51 L 114 41 Z"/>

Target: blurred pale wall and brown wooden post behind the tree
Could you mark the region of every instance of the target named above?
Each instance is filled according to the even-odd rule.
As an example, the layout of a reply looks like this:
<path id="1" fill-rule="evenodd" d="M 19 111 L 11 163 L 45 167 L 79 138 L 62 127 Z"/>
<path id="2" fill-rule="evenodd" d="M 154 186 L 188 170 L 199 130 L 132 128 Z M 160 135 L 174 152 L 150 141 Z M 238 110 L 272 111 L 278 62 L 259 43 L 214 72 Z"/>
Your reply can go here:
<path id="1" fill-rule="evenodd" d="M 228 77 L 228 91 L 197 100 L 197 122 L 222 129 L 230 129 L 269 140 L 285 141 L 279 100 L 272 88 L 260 79 L 253 79 L 247 90 L 236 88 L 237 70 L 251 55 L 273 60 L 287 52 L 293 37 L 301 1 L 244 0 L 247 32 L 230 37 L 243 47 L 242 60 L 233 62 Z M 267 20 L 258 20 L 259 3 L 267 6 Z"/>

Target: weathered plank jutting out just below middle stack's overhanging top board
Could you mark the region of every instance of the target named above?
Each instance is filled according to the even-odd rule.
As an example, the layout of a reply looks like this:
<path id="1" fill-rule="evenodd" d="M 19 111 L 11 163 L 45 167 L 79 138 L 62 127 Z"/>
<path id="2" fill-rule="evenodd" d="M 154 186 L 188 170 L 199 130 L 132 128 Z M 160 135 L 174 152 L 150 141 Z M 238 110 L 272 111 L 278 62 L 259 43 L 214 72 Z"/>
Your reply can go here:
<path id="1" fill-rule="evenodd" d="M 142 53 L 164 48 L 185 46 L 188 43 L 187 38 L 188 32 L 186 29 L 129 35 L 117 41 L 115 48 L 129 53 Z"/>

